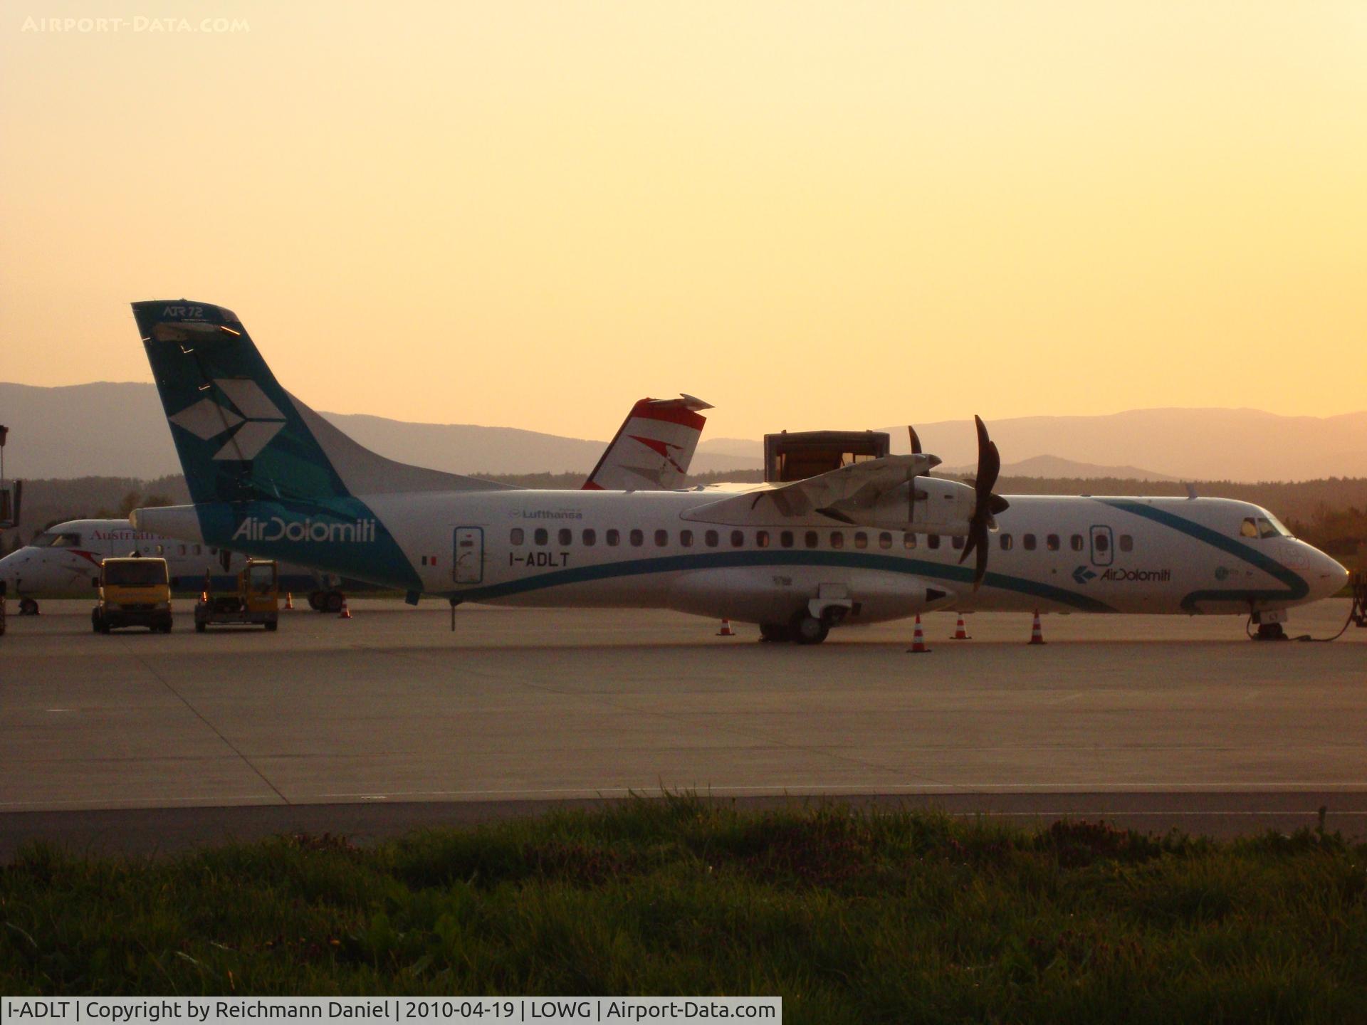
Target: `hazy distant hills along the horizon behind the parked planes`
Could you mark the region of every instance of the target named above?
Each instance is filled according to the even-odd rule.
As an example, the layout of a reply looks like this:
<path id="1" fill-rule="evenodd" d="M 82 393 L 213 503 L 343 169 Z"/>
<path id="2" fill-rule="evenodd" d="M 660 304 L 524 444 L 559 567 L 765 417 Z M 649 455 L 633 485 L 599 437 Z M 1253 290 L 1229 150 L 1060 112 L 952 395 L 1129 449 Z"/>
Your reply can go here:
<path id="1" fill-rule="evenodd" d="M 610 437 L 621 413 L 604 414 Z M 465 474 L 588 473 L 606 440 L 559 437 L 473 424 L 410 424 L 324 413 L 381 455 Z M 0 424 L 11 428 L 5 467 L 21 477 L 137 477 L 179 472 L 171 432 L 150 384 L 37 388 L 0 384 Z M 823 426 L 838 428 L 841 424 Z M 1020 417 L 990 425 L 1006 472 L 1018 477 L 1300 481 L 1367 477 L 1367 411 L 1280 417 L 1247 409 L 1152 409 L 1105 417 Z M 925 451 L 945 466 L 977 461 L 972 418 L 917 424 Z M 906 428 L 887 428 L 908 451 Z M 700 474 L 753 470 L 759 439 L 707 437 Z M 1139 469 L 1152 467 L 1152 469 Z"/>

